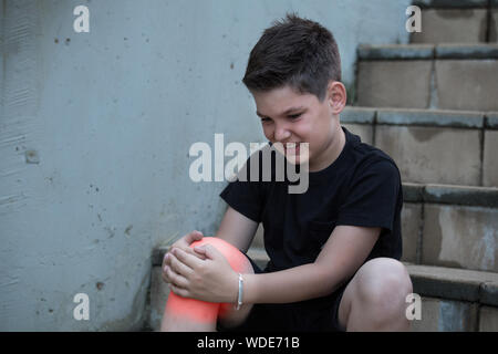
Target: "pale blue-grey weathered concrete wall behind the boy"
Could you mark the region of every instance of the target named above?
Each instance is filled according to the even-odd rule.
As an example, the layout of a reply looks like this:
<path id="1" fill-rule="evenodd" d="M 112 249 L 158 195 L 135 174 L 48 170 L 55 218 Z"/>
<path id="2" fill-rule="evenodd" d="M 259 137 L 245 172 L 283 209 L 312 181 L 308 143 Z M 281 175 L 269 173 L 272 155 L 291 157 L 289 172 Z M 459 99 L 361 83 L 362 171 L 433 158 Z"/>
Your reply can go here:
<path id="1" fill-rule="evenodd" d="M 321 22 L 351 85 L 359 43 L 407 42 L 408 2 L 4 0 L 0 330 L 138 329 L 152 249 L 225 210 L 225 181 L 189 179 L 190 145 L 264 142 L 240 81 L 262 30 L 289 10 Z"/>

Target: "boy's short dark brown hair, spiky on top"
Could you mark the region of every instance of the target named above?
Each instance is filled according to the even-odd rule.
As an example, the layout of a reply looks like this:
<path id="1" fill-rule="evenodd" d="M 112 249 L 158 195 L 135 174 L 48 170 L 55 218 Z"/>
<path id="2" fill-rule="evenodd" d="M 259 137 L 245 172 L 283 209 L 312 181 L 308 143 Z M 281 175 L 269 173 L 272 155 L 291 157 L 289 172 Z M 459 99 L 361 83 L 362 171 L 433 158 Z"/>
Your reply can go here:
<path id="1" fill-rule="evenodd" d="M 331 80 L 341 81 L 333 34 L 317 22 L 287 13 L 264 30 L 251 50 L 242 82 L 251 92 L 290 85 L 323 101 Z"/>

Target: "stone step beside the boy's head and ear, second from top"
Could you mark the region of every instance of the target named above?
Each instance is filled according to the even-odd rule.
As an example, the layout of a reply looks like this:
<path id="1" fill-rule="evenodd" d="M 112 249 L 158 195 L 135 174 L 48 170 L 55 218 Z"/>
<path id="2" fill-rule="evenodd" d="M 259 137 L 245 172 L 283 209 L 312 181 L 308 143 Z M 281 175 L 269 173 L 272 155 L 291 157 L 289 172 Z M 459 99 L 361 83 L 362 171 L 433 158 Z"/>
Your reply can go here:
<path id="1" fill-rule="evenodd" d="M 498 44 L 357 49 L 355 105 L 498 111 Z"/>

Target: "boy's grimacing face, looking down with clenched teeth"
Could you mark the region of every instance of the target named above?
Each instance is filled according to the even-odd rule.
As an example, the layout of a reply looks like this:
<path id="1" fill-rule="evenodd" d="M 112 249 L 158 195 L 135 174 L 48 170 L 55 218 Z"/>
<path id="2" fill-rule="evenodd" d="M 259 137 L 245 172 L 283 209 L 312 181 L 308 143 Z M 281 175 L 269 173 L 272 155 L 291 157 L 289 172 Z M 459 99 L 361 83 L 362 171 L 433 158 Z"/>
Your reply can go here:
<path id="1" fill-rule="evenodd" d="M 298 93 L 290 86 L 269 92 L 252 92 L 257 115 L 261 118 L 264 136 L 292 164 L 302 164 L 305 156 L 299 156 L 299 148 L 286 149 L 287 143 L 309 143 L 309 170 L 320 170 L 332 162 L 331 152 L 342 129 L 333 113 L 330 94 L 320 102 L 309 93 Z M 339 131 L 341 132 L 339 132 Z M 301 157 L 301 159 L 300 159 Z"/>

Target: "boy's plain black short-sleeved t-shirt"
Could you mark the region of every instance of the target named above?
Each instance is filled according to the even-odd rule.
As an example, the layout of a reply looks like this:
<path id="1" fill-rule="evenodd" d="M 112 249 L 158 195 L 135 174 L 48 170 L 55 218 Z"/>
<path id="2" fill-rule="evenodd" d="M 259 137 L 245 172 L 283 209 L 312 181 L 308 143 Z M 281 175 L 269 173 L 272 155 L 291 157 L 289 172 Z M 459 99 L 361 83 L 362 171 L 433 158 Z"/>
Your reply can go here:
<path id="1" fill-rule="evenodd" d="M 377 257 L 401 259 L 400 170 L 388 155 L 342 129 L 346 138 L 343 150 L 329 167 L 309 173 L 305 192 L 289 194 L 289 185 L 298 183 L 289 181 L 287 174 L 284 180 L 276 180 L 274 159 L 272 178 L 263 181 L 261 149 L 248 158 L 242 169 L 247 181 L 239 180 L 239 178 L 221 191 L 220 197 L 230 207 L 263 223 L 264 248 L 270 258 L 264 271 L 312 263 L 340 225 L 382 228 L 365 262 Z M 249 160 L 256 154 L 260 178 L 255 181 L 249 177 Z"/>

